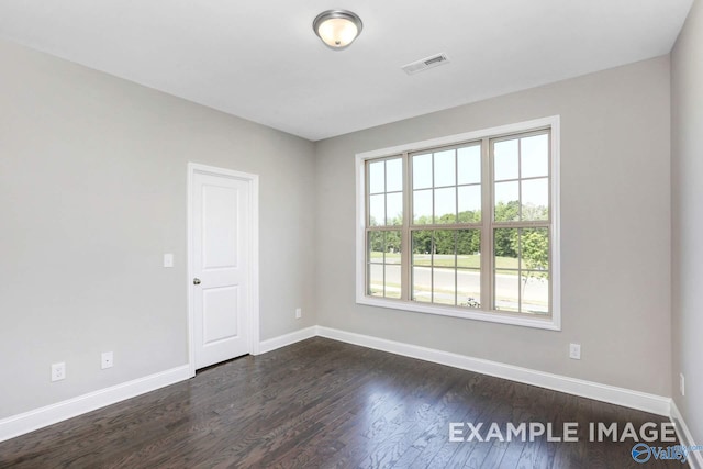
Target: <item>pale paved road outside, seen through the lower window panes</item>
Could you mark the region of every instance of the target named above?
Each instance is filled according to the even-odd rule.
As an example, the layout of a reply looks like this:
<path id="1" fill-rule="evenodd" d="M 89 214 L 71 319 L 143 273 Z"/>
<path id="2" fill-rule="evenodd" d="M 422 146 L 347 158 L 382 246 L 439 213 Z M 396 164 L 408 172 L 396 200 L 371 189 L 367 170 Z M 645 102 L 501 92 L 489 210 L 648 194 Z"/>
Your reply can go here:
<path id="1" fill-rule="evenodd" d="M 375 288 L 382 288 L 383 266 L 379 264 L 371 265 L 371 284 Z M 392 266 L 386 271 L 387 283 L 400 286 L 400 266 Z M 476 271 L 459 270 L 456 273 L 457 284 L 459 287 L 459 303 L 462 298 L 480 298 L 480 277 Z M 429 286 L 432 281 L 432 269 L 429 267 L 414 268 L 414 283 L 419 286 L 421 292 L 416 294 L 419 299 L 429 300 Z M 498 295 L 498 306 L 506 309 L 515 309 L 517 303 L 518 289 L 523 287 L 517 276 L 498 275 L 495 292 Z M 453 302 L 455 289 L 455 271 L 453 269 L 435 268 L 435 302 Z M 391 287 L 392 288 L 392 287 Z M 389 288 L 390 289 L 390 288 Z M 437 292 L 437 290 L 440 290 Z M 545 280 L 531 278 L 524 284 L 523 290 L 523 308 L 533 311 L 547 311 L 547 300 L 549 298 L 549 286 Z M 445 300 L 445 301 L 443 301 Z"/>

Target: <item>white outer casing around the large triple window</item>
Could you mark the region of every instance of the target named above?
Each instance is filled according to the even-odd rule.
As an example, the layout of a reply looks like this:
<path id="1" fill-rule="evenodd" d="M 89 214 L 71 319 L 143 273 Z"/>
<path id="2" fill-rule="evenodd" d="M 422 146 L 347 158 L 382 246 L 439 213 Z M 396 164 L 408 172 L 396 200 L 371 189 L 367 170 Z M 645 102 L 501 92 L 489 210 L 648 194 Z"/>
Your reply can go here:
<path id="1" fill-rule="evenodd" d="M 561 331 L 561 261 L 560 261 L 560 208 L 559 208 L 559 115 L 553 115 L 532 121 L 518 122 L 498 127 L 484 129 L 464 134 L 449 135 L 439 138 L 427 139 L 423 142 L 414 142 L 399 145 L 390 148 L 382 148 L 371 152 L 364 152 L 356 155 L 356 302 L 358 304 L 389 308 L 394 310 L 403 310 L 409 312 L 437 314 L 444 316 L 454 316 L 462 319 L 471 319 L 478 321 L 487 321 L 501 324 L 513 324 L 526 327 L 536 327 L 550 331 Z M 419 152 L 428 148 L 457 145 L 464 142 L 477 141 L 482 138 L 494 138 L 509 134 L 517 134 L 531 132 L 540 129 L 550 129 L 551 161 L 550 161 L 550 283 L 551 283 L 551 316 L 533 316 L 528 313 L 507 313 L 495 311 L 481 311 L 476 309 L 457 309 L 443 306 L 435 303 L 421 303 L 416 301 L 404 301 L 395 299 L 386 299 L 378 297 L 369 297 L 366 289 L 366 223 L 367 223 L 367 204 L 366 204 L 366 161 L 369 159 L 384 158 L 398 156 L 405 153 Z M 492 183 L 492 181 L 482 180 L 482 185 Z M 403 191 L 408 191 L 408 185 L 403 187 Z M 412 216 L 405 213 L 404 216 Z M 489 216 L 484 213 L 483 216 Z M 399 227 L 400 228 L 400 227 Z M 408 259 L 406 261 L 410 261 Z M 490 272 L 481 272 L 482 276 L 491 275 Z"/>

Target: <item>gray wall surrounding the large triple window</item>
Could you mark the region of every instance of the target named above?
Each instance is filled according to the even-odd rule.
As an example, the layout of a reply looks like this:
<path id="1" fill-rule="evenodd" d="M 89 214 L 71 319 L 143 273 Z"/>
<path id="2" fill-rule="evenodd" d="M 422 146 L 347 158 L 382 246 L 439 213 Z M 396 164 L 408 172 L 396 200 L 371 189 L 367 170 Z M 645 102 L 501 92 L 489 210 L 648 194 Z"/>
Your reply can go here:
<path id="1" fill-rule="evenodd" d="M 562 332 L 355 304 L 356 153 L 554 114 Z M 319 142 L 319 323 L 670 395 L 669 114 L 665 56 Z"/>

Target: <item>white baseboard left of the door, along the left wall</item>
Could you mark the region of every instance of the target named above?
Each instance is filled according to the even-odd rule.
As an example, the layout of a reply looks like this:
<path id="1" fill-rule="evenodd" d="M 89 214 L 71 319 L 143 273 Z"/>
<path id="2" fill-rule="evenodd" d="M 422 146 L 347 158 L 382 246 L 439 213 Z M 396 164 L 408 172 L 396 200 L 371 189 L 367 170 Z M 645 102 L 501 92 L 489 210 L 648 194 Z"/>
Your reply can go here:
<path id="1" fill-rule="evenodd" d="M 186 365 L 2 418 L 0 420 L 0 442 L 187 380 L 190 377 L 190 367 Z"/>

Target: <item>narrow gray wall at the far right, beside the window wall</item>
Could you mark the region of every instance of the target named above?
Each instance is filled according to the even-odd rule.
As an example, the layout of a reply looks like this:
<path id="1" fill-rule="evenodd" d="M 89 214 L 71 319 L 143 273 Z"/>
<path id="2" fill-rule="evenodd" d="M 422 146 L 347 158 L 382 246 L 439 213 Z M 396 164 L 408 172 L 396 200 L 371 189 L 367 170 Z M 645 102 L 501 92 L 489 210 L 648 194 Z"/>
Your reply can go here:
<path id="1" fill-rule="evenodd" d="M 703 4 L 695 1 L 671 53 L 672 390 L 703 442 Z M 685 376 L 685 397 L 679 392 Z"/>

